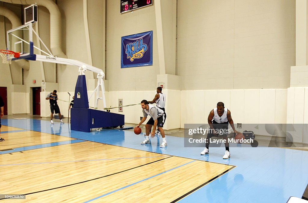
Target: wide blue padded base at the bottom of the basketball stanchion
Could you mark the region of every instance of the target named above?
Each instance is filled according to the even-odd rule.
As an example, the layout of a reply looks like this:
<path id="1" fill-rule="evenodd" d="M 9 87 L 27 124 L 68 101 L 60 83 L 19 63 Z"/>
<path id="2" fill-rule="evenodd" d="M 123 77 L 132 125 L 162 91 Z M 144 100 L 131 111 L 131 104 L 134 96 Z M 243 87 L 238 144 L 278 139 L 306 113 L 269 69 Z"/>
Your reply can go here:
<path id="1" fill-rule="evenodd" d="M 71 108 L 71 130 L 90 132 L 92 128 L 124 125 L 124 115 L 89 108 Z"/>

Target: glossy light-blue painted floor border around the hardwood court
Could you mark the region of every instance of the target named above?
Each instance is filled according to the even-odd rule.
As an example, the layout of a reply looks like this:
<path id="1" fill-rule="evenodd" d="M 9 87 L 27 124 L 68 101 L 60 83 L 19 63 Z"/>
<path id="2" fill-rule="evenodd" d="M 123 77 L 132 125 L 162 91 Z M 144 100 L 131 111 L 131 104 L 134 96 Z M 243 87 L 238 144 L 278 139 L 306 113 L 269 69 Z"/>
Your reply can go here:
<path id="1" fill-rule="evenodd" d="M 56 122 L 51 126 L 49 121 L 35 119 L 1 119 L 1 123 L 11 127 L 79 140 L 236 166 L 181 199 L 179 201 L 181 203 L 285 203 L 290 196 L 301 198 L 308 183 L 308 151 L 236 145 L 230 146 L 231 158 L 224 160 L 222 159 L 225 152 L 224 147 L 212 147 L 209 149 L 209 154 L 200 155 L 203 148 L 184 147 L 183 137 L 166 136 L 168 146 L 160 148 L 161 137 L 152 138 L 151 144 L 141 145 L 140 142 L 144 139 L 143 135 L 135 135 L 132 131 L 127 130 L 102 129 L 101 131 L 84 133 L 70 130 L 70 125 L 67 123 Z M 3 153 L 6 151 L 0 152 L 0 154 Z"/>

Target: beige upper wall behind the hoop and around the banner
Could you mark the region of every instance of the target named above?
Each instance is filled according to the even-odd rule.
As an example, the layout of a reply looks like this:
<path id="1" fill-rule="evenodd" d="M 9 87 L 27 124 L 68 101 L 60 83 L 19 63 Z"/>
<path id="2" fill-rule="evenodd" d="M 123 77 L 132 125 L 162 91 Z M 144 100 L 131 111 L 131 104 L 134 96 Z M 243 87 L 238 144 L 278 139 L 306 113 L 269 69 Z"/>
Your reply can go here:
<path id="1" fill-rule="evenodd" d="M 162 32 L 166 73 L 177 71 L 182 90 L 290 87 L 290 66 L 295 65 L 294 0 L 196 0 L 189 3 L 178 0 L 176 53 L 172 49 L 175 44 L 175 2 L 161 1 Z M 157 46 L 157 32 L 161 30 L 157 30 L 155 5 L 120 14 L 119 2 L 107 0 L 106 28 L 104 1 L 67 0 L 59 1 L 58 6 L 63 33 L 61 46 L 68 58 L 94 63 L 94 66 L 105 70 L 109 91 L 155 89 L 156 77 L 151 76 L 160 74 L 158 53 L 161 51 Z M 10 9 L 15 9 L 16 15 L 20 15 L 18 8 L 11 6 Z M 84 16 L 85 9 L 87 15 Z M 50 44 L 48 14 L 45 7 L 39 6 L 38 30 L 47 46 Z M 121 36 L 149 30 L 154 32 L 153 66 L 121 69 Z M 173 62 L 174 54 L 177 55 L 176 64 Z M 24 84 L 33 85 L 33 79 L 41 81 L 41 68 L 39 62 L 31 64 L 33 72 L 30 70 L 24 74 Z M 55 82 L 55 65 L 44 63 L 43 68 L 45 81 Z M 61 90 L 74 88 L 77 69 L 59 65 Z M 13 68 L 12 71 L 13 84 L 22 84 L 21 70 Z M 89 73 L 88 77 L 95 76 Z"/>

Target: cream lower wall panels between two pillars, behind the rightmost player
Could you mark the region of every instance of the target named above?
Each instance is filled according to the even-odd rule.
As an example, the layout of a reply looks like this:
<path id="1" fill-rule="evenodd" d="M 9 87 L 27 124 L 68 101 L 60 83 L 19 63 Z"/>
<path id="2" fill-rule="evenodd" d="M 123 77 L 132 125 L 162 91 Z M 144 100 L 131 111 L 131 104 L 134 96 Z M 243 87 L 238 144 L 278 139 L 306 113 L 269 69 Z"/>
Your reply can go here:
<path id="1" fill-rule="evenodd" d="M 209 112 L 221 101 L 234 123 L 286 123 L 286 89 L 186 90 L 181 91 L 181 128 L 207 123 Z"/>

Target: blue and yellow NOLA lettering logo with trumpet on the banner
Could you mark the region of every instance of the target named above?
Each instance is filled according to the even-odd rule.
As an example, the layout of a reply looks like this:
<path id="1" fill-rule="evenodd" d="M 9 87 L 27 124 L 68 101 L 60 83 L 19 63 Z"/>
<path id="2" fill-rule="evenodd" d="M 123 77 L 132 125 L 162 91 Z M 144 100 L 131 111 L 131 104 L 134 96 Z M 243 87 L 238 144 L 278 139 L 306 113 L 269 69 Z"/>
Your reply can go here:
<path id="1" fill-rule="evenodd" d="M 126 44 L 127 58 L 130 58 L 131 61 L 134 61 L 135 58 L 142 58 L 144 52 L 148 50 L 148 45 L 143 44 L 143 38 L 136 40 L 133 43 Z"/>

